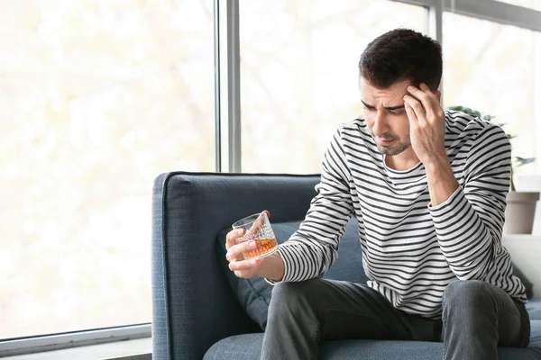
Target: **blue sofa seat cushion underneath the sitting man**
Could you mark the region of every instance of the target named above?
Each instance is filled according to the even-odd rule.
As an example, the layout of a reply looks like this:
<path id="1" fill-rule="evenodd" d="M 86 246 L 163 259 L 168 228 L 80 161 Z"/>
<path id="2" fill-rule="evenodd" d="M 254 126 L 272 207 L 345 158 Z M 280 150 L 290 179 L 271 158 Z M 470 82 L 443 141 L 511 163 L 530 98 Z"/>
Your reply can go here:
<path id="1" fill-rule="evenodd" d="M 541 321 L 532 321 L 532 337 L 541 338 Z M 218 341 L 204 360 L 248 360 L 261 356 L 263 334 L 246 334 Z M 326 360 L 440 360 L 444 344 L 426 341 L 340 340 L 321 344 L 319 358 Z M 500 347 L 500 360 L 540 360 L 541 344 L 530 341 L 527 348 Z"/>

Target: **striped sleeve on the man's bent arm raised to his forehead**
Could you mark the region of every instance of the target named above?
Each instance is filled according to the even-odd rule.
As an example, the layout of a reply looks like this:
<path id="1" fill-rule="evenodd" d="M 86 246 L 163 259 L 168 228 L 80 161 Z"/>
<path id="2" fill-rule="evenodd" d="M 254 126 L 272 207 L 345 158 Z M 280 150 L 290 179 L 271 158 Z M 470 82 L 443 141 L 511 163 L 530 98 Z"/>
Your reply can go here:
<path id="1" fill-rule="evenodd" d="M 429 207 L 439 246 L 460 280 L 484 280 L 500 250 L 510 153 L 505 132 L 487 126 L 468 151 L 463 186 Z"/>

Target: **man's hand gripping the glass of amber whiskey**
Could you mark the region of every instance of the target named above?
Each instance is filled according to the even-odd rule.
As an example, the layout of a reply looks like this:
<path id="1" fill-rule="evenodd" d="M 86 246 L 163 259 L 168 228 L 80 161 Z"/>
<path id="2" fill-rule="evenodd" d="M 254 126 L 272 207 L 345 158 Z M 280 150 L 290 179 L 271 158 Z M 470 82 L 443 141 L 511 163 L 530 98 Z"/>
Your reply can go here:
<path id="1" fill-rule="evenodd" d="M 267 217 L 271 217 L 269 211 Z M 284 275 L 284 263 L 280 254 L 275 252 L 269 257 L 259 259 L 244 259 L 243 252 L 255 248 L 255 241 L 243 241 L 237 243 L 238 238 L 243 237 L 243 229 L 233 229 L 227 233 L 225 240 L 225 248 L 227 253 L 225 258 L 229 261 L 229 269 L 234 272 L 234 275 L 242 278 L 250 278 L 252 276 L 262 276 L 280 281 Z"/>

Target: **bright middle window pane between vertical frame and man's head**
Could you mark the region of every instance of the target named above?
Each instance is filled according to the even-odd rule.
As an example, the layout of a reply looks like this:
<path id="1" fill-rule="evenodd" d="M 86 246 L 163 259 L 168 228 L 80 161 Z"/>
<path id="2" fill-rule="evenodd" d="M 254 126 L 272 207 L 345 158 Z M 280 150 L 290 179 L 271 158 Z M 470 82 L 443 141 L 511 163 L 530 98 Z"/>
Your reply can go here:
<path id="1" fill-rule="evenodd" d="M 397 27 L 426 32 L 426 9 L 381 0 L 241 0 L 243 171 L 318 173 L 338 124 L 362 112 L 362 50 Z"/>

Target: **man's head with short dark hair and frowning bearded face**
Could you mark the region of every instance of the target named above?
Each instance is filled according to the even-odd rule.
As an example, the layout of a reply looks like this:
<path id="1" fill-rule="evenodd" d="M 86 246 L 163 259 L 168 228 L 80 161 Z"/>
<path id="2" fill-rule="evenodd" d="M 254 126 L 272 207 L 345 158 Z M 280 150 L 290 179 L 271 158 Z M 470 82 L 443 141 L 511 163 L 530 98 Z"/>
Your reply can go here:
<path id="1" fill-rule="evenodd" d="M 386 32 L 364 49 L 359 60 L 364 119 L 381 152 L 394 156 L 411 146 L 403 97 L 408 85 L 421 83 L 441 96 L 442 67 L 441 45 L 417 31 Z"/>

